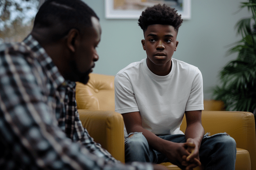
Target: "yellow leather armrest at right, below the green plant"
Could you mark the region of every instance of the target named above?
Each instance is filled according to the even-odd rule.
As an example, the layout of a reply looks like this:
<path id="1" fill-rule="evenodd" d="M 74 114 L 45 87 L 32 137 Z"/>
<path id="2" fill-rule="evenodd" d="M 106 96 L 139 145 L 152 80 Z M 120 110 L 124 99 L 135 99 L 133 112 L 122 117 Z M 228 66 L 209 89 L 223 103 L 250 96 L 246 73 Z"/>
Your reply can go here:
<path id="1" fill-rule="evenodd" d="M 185 116 L 184 116 L 185 117 Z M 241 111 L 202 111 L 202 125 L 205 133 L 228 133 L 236 140 L 236 147 L 248 150 L 252 170 L 256 170 L 256 131 L 253 113 Z M 182 127 L 186 129 L 186 119 Z"/>

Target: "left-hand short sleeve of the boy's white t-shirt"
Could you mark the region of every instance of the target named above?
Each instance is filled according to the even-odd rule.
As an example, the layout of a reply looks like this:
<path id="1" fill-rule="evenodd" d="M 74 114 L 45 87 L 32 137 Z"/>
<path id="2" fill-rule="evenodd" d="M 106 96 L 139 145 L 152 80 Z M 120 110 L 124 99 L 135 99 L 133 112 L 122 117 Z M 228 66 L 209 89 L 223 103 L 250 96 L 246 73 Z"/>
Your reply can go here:
<path id="1" fill-rule="evenodd" d="M 121 114 L 139 111 L 130 80 L 123 74 L 117 74 L 114 85 L 115 111 Z"/>

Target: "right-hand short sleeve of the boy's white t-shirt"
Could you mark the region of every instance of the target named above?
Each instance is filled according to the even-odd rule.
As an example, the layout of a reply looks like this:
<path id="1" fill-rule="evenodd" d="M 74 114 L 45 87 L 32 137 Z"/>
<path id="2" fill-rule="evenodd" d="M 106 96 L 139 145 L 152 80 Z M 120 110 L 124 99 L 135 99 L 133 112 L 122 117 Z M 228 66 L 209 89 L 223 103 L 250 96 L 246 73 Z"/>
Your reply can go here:
<path id="1" fill-rule="evenodd" d="M 203 77 L 196 69 L 185 111 L 204 110 Z"/>

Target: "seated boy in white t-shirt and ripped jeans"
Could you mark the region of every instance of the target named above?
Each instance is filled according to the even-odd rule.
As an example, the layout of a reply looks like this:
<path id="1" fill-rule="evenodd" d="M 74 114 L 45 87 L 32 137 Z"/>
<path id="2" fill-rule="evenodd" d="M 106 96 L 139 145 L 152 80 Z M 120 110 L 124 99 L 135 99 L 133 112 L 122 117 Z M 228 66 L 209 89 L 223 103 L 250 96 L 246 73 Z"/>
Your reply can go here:
<path id="1" fill-rule="evenodd" d="M 115 76 L 115 110 L 127 135 L 125 161 L 162 163 L 181 169 L 234 170 L 236 142 L 226 133 L 204 135 L 201 124 L 203 80 L 199 69 L 172 58 L 177 50 L 177 10 L 160 4 L 142 12 L 147 57 Z M 180 131 L 184 113 L 187 127 Z"/>

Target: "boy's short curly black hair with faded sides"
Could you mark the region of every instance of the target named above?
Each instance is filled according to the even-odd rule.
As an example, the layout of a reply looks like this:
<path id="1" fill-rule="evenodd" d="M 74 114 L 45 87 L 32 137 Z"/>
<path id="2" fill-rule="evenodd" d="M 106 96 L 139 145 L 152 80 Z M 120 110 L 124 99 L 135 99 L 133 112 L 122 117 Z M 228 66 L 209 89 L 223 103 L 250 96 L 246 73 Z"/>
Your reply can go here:
<path id="1" fill-rule="evenodd" d="M 150 25 L 163 24 L 171 25 L 174 27 L 175 31 L 178 32 L 183 19 L 181 19 L 181 14 L 177 13 L 175 8 L 170 8 L 166 4 L 154 5 L 145 9 L 140 15 L 138 20 L 140 28 L 145 32 Z"/>

